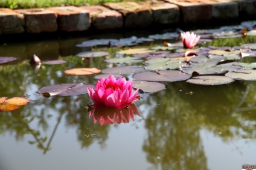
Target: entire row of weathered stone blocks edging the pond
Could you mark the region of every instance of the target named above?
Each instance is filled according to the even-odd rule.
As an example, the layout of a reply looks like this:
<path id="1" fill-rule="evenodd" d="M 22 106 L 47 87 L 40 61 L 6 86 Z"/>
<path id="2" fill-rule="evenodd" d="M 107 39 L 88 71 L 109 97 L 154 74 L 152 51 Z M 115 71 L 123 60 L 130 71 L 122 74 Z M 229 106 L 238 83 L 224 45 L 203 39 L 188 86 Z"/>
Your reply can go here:
<path id="1" fill-rule="evenodd" d="M 230 22 L 256 18 L 256 0 L 109 2 L 102 6 L 0 8 L 0 35 Z"/>

